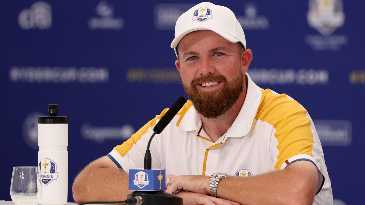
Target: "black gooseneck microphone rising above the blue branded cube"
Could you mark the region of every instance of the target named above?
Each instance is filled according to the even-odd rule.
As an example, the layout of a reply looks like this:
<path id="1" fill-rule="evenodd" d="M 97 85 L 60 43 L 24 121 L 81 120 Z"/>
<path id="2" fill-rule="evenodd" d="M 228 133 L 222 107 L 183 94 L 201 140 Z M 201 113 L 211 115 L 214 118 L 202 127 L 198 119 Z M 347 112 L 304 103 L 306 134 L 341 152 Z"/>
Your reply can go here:
<path id="1" fill-rule="evenodd" d="M 164 116 L 162 116 L 161 120 L 158 121 L 158 123 L 153 128 L 153 134 L 151 135 L 150 140 L 147 144 L 147 150 L 145 154 L 145 168 L 144 169 L 151 169 L 152 164 L 152 157 L 150 152 L 150 144 L 152 142 L 153 137 L 155 134 L 160 134 L 162 130 L 165 129 L 165 127 L 170 123 L 170 121 L 174 118 L 176 113 L 184 106 L 186 102 L 185 97 L 179 97 L 174 102 L 174 104 L 170 107 L 170 109 L 165 113 Z"/>

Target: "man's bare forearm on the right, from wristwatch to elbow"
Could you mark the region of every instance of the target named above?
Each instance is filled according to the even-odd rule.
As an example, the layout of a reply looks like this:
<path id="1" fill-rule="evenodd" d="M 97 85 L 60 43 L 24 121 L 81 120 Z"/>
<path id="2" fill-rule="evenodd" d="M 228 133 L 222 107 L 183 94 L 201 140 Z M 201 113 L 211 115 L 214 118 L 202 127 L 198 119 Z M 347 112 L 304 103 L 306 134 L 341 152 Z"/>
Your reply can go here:
<path id="1" fill-rule="evenodd" d="M 293 174 L 289 170 L 278 170 L 253 177 L 228 177 L 219 182 L 217 195 L 242 205 L 312 204 L 318 180 L 300 178 L 298 176 L 311 173 L 308 170 L 300 172 Z"/>

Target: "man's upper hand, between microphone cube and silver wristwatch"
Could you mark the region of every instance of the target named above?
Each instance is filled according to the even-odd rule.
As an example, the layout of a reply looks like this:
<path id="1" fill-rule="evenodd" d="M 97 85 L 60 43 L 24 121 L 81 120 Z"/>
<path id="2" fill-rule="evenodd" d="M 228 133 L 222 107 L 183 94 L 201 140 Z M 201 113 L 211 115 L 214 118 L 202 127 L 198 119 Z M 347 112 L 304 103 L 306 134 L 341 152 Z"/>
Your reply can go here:
<path id="1" fill-rule="evenodd" d="M 170 179 L 170 186 L 166 192 L 174 193 L 178 189 L 185 191 L 209 194 L 210 193 L 210 177 L 203 175 L 166 175 Z"/>

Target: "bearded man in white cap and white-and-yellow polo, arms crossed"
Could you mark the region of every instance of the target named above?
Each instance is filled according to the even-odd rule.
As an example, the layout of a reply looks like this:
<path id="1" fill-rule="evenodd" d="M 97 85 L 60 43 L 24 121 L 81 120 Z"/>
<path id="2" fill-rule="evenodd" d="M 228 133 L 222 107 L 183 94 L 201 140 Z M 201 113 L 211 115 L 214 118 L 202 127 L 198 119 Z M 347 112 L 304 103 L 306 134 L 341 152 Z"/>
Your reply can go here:
<path id="1" fill-rule="evenodd" d="M 289 96 L 250 79 L 252 53 L 230 9 L 192 7 L 177 20 L 171 47 L 191 101 L 150 146 L 152 168 L 168 174 L 167 192 L 184 204 L 333 203 L 310 116 Z M 143 167 L 153 127 L 166 111 L 85 167 L 73 184 L 75 201 L 126 198 L 124 171 Z"/>

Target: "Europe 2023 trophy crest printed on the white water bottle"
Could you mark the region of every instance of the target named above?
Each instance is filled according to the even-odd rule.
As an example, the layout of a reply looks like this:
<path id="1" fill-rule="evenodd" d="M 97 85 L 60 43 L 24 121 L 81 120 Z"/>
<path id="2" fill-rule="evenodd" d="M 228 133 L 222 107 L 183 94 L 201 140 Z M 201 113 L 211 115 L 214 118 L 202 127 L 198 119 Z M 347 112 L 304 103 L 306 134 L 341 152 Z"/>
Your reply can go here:
<path id="1" fill-rule="evenodd" d="M 44 185 L 48 185 L 51 181 L 57 179 L 57 164 L 53 160 L 43 158 L 39 160 L 38 166 L 41 169 L 41 178 Z"/>

